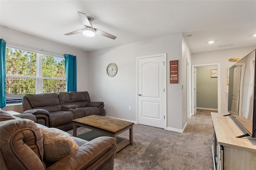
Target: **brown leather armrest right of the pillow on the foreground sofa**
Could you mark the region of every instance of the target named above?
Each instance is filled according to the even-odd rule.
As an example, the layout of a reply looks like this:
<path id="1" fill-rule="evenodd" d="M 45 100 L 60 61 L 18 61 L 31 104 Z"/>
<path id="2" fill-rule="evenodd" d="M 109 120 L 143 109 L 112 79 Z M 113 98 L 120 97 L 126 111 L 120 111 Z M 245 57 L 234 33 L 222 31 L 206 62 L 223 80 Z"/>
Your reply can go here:
<path id="1" fill-rule="evenodd" d="M 65 156 L 47 170 L 55 169 L 113 169 L 115 139 L 102 136 L 80 146 L 76 151 Z M 106 163 L 107 162 L 107 163 Z"/>

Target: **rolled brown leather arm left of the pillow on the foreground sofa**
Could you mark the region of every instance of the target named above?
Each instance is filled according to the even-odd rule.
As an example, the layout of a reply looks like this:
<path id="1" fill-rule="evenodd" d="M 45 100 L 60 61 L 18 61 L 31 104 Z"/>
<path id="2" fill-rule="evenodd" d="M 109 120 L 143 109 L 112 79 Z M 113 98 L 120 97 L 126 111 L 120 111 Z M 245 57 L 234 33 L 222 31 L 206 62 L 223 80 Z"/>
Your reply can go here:
<path id="1" fill-rule="evenodd" d="M 36 123 L 28 119 L 2 121 L 0 131 L 6 169 L 44 169 L 42 132 Z"/>

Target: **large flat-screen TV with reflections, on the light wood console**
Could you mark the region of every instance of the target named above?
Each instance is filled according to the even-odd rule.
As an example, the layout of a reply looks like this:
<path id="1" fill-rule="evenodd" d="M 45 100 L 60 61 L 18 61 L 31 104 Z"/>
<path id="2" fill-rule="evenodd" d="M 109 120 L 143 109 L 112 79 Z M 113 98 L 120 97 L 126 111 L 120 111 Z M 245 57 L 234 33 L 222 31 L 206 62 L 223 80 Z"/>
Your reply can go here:
<path id="1" fill-rule="evenodd" d="M 229 68 L 228 112 L 246 130 L 241 136 L 256 137 L 256 49 Z"/>

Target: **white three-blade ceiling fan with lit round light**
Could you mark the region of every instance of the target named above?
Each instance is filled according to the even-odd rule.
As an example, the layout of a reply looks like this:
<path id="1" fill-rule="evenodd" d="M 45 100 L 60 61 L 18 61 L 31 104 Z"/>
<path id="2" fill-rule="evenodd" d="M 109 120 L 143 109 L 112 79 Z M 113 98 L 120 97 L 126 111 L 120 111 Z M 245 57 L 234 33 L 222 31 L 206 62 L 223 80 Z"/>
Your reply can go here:
<path id="1" fill-rule="evenodd" d="M 93 18 L 87 17 L 86 14 L 84 14 L 82 12 L 78 12 L 78 15 L 79 15 L 82 23 L 84 24 L 84 28 L 80 29 L 80 30 L 70 32 L 70 33 L 67 33 L 67 34 L 64 34 L 64 35 L 70 36 L 70 35 L 73 35 L 73 34 L 83 32 L 84 36 L 87 36 L 87 37 L 94 37 L 95 34 L 99 34 L 101 36 L 105 36 L 105 37 L 111 38 L 113 40 L 116 39 L 116 36 L 108 34 L 108 33 L 104 32 L 102 30 L 99 30 L 97 28 L 93 28 L 93 26 L 92 26 Z"/>

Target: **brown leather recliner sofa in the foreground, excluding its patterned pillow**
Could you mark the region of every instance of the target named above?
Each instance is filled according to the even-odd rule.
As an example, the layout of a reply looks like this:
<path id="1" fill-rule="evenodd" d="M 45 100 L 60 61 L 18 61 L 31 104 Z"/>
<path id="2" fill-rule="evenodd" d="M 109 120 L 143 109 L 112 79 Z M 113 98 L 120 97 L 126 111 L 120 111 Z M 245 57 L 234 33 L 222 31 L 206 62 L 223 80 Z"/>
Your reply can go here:
<path id="1" fill-rule="evenodd" d="M 32 114 L 21 119 L 0 111 L 1 170 L 111 170 L 114 166 L 115 139 L 99 137 L 90 142 L 71 137 L 78 149 L 57 162 L 46 162 L 42 131 Z M 31 119 L 29 120 L 29 119 Z M 65 133 L 65 132 L 64 132 Z"/>

